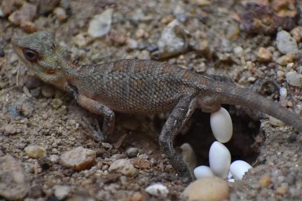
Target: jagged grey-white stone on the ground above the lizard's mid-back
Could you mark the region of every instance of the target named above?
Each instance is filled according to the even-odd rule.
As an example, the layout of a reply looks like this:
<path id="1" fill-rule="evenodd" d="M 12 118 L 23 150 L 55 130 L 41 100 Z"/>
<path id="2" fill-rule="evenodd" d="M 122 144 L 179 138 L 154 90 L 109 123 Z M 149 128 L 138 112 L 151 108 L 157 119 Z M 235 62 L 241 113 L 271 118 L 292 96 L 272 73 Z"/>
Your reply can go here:
<path id="1" fill-rule="evenodd" d="M 170 22 L 164 28 L 160 39 L 157 42 L 159 48 L 159 58 L 165 58 L 180 53 L 188 49 L 187 35 L 189 32 L 177 20 Z"/>

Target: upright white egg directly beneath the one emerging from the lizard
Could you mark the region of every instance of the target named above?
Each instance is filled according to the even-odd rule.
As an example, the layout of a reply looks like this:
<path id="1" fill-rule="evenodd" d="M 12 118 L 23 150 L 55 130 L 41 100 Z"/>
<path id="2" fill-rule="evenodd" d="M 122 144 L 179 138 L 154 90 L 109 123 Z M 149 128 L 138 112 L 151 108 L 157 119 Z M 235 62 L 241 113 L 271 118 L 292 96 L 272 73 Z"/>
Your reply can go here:
<path id="1" fill-rule="evenodd" d="M 216 176 L 222 179 L 227 178 L 231 164 L 231 154 L 228 148 L 215 141 L 210 147 L 209 163 L 212 172 Z"/>

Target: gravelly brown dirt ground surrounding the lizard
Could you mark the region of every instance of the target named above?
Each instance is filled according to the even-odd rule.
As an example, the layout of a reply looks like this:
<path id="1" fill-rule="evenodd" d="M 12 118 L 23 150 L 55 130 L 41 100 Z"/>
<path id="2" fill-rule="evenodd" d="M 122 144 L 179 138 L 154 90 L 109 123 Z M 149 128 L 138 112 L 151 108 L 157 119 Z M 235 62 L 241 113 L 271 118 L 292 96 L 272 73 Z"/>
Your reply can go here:
<path id="1" fill-rule="evenodd" d="M 102 125 L 102 117 L 81 108 L 70 95 L 45 84 L 18 62 L 11 41 L 26 32 L 55 33 L 60 45 L 81 64 L 124 58 L 158 59 L 200 74 L 226 75 L 238 85 L 279 101 L 302 116 L 302 87 L 291 84 L 285 77 L 289 71 L 302 73 L 302 42 L 298 38 L 302 38 L 302 34 L 299 36 L 302 29 L 295 37 L 299 50 L 294 54 L 282 53 L 276 39 L 282 29 L 290 32 L 302 26 L 301 1 L 250 1 L 258 6 L 267 5 L 265 8 L 273 8 L 272 12 L 261 6 L 257 7 L 262 8 L 261 12 L 248 10 L 247 1 L 235 0 L 48 1 L 52 6 L 38 0 L 25 2 L 37 10 L 33 16 L 21 13 L 25 21 L 12 16 L 22 10 L 24 1 L 0 2 L 0 157 L 9 154 L 24 169 L 27 201 L 59 200 L 54 193 L 56 185 L 69 186 L 61 200 L 180 200 L 180 193 L 187 184 L 169 177 L 157 180 L 164 172 L 176 175 L 158 144 L 168 114 L 117 113 L 115 130 L 107 144 L 93 141 L 81 124 L 82 117 L 94 127 L 95 119 Z M 110 30 L 99 38 L 90 36 L 89 22 L 108 9 L 113 9 Z M 282 17 L 275 17 L 281 15 L 279 11 Z M 260 20 L 255 20 L 257 17 Z M 188 47 L 165 56 L 158 41 L 175 19 L 191 38 Z M 260 22 L 265 19 L 269 20 Z M 292 32 L 291 35 L 295 36 Z M 198 48 L 194 46 L 196 41 L 202 42 Z M 280 95 L 280 88 L 285 88 L 287 95 Z M 234 127 L 232 140 L 225 144 L 232 161 L 242 159 L 254 167 L 243 180 L 229 183 L 229 199 L 301 200 L 302 136 L 292 127 L 273 126 L 267 116 L 257 120 L 254 113 L 249 114 L 242 108 L 225 108 L 232 116 Z M 213 141 L 209 114 L 196 110 L 175 139 L 175 147 L 181 151 L 179 147 L 189 143 L 198 165 L 208 165 L 208 150 Z M 29 157 L 24 150 L 29 145 L 44 147 L 46 155 L 37 159 Z M 96 159 L 86 170 L 68 169 L 59 160 L 50 159 L 79 146 L 96 152 Z M 112 161 L 131 158 L 129 148 L 137 148 L 139 153 L 139 157 L 132 158 L 138 175 L 125 177 L 109 172 Z M 166 198 L 145 191 L 153 181 L 168 187 Z M 0 182 L 3 182 L 1 177 Z M 6 199 L 0 197 L 0 200 Z"/>

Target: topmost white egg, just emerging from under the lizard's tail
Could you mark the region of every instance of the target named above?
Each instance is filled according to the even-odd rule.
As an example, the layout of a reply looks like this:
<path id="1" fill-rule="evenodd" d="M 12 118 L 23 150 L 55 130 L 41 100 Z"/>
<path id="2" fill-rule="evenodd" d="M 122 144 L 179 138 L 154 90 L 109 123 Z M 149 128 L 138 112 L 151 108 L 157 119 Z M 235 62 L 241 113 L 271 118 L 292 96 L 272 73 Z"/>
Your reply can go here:
<path id="1" fill-rule="evenodd" d="M 220 108 L 219 111 L 211 114 L 210 125 L 217 141 L 225 143 L 232 138 L 232 119 L 228 111 L 224 108 Z"/>

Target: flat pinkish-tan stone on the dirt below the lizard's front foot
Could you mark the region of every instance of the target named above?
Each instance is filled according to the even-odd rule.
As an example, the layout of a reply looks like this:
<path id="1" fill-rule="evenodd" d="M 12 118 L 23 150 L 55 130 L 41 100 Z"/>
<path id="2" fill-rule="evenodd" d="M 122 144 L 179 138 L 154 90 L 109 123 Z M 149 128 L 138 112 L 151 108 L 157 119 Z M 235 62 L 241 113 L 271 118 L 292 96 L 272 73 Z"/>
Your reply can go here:
<path id="1" fill-rule="evenodd" d="M 66 168 L 81 171 L 92 166 L 96 159 L 94 150 L 77 147 L 71 151 L 63 153 L 60 157 L 61 164 Z"/>

